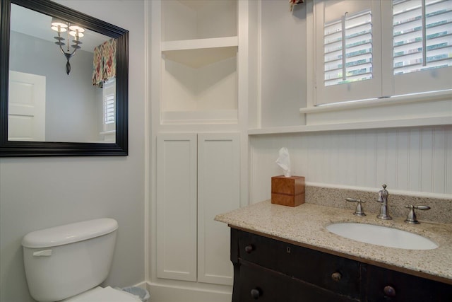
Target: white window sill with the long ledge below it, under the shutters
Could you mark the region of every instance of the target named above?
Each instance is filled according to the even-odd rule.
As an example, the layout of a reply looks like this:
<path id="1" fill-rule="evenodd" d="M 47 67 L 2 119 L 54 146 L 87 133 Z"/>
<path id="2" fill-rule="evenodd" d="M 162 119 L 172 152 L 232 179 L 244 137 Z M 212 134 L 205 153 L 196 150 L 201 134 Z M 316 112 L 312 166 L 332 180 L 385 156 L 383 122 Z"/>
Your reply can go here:
<path id="1" fill-rule="evenodd" d="M 452 124 L 452 90 L 302 108 L 306 123 L 249 129 L 249 135 L 322 132 Z"/>

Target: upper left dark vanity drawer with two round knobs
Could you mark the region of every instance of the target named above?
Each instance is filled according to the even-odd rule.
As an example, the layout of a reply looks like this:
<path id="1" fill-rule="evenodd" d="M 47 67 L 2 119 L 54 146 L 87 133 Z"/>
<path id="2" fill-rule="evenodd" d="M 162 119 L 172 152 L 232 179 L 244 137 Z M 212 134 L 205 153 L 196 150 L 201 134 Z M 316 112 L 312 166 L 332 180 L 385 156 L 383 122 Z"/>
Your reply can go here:
<path id="1" fill-rule="evenodd" d="M 359 299 L 359 262 L 239 231 L 238 257 L 323 289 Z"/>

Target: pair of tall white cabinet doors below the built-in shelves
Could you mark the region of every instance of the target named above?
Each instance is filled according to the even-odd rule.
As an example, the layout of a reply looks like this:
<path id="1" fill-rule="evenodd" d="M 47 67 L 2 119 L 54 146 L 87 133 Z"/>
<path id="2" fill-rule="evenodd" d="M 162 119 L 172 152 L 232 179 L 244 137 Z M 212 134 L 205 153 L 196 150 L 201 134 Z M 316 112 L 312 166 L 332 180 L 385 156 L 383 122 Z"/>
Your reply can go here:
<path id="1" fill-rule="evenodd" d="M 157 277 L 232 285 L 230 235 L 215 215 L 240 205 L 239 133 L 157 136 Z"/>

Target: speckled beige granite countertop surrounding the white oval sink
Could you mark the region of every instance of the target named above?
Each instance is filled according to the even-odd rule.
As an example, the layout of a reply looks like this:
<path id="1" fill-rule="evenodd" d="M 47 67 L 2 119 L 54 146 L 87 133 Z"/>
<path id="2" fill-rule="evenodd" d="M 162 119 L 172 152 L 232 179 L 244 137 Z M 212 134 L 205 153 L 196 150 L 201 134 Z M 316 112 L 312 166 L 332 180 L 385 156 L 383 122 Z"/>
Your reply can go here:
<path id="1" fill-rule="evenodd" d="M 385 221 L 377 219 L 374 213 L 357 217 L 347 209 L 317 204 L 285 207 L 271 204 L 270 200 L 215 217 L 216 221 L 228 223 L 232 228 L 452 284 L 452 224 L 421 221 L 412 225 L 404 223 L 404 219 Z M 325 226 L 337 222 L 390 226 L 427 237 L 439 247 L 434 250 L 405 250 L 361 243 L 326 230 Z"/>

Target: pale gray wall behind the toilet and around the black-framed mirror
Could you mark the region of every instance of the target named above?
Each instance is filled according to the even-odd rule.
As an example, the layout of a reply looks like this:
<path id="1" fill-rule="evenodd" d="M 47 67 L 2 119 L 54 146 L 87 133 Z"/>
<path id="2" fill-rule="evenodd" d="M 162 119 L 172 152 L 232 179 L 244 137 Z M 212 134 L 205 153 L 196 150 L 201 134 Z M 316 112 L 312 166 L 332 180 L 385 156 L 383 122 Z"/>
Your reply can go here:
<path id="1" fill-rule="evenodd" d="M 0 158 L 0 301 L 32 301 L 22 237 L 33 230 L 97 217 L 119 222 L 106 284 L 145 279 L 145 59 L 143 1 L 59 1 L 130 32 L 129 156 Z"/>

